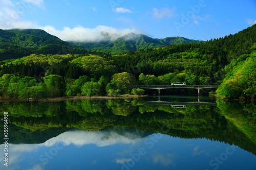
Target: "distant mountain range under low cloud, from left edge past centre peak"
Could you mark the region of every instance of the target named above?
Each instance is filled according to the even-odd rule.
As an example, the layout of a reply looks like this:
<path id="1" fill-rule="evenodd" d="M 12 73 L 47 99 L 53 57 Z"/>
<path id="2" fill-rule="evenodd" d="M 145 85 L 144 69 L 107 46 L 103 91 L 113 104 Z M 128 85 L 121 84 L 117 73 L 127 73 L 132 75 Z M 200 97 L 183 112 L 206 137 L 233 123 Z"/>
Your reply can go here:
<path id="1" fill-rule="evenodd" d="M 110 41 L 108 33 L 106 41 L 101 42 L 65 42 L 56 36 L 39 29 L 0 29 L 0 60 L 16 59 L 33 53 L 39 54 L 81 54 L 111 53 L 120 54 L 129 50 L 157 48 L 171 44 L 198 43 L 183 37 L 151 38 L 143 34 L 130 33 Z"/>

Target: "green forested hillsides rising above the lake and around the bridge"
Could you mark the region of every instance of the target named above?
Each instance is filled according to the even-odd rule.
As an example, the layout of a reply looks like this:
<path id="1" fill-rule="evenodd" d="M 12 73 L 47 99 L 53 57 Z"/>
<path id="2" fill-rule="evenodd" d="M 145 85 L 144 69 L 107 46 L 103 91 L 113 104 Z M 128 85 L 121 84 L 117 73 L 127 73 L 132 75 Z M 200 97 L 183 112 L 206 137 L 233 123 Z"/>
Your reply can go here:
<path id="1" fill-rule="evenodd" d="M 121 43 L 115 54 L 38 30 L 0 30 L 0 96 L 37 102 L 59 96 L 143 95 L 144 90 L 125 86 L 185 82 L 218 84 L 216 92 L 224 99 L 254 98 L 255 33 L 256 25 L 206 42 L 139 50 Z"/>

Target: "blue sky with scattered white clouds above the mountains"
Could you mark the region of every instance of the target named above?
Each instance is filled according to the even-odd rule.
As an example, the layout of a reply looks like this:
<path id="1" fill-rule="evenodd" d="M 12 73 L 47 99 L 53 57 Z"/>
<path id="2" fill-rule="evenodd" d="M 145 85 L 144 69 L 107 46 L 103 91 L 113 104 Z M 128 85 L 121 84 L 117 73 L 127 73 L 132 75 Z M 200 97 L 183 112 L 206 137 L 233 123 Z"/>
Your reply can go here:
<path id="1" fill-rule="evenodd" d="M 130 32 L 209 40 L 256 23 L 255 0 L 1 0 L 0 29 L 37 28 L 62 40 L 112 40 Z"/>

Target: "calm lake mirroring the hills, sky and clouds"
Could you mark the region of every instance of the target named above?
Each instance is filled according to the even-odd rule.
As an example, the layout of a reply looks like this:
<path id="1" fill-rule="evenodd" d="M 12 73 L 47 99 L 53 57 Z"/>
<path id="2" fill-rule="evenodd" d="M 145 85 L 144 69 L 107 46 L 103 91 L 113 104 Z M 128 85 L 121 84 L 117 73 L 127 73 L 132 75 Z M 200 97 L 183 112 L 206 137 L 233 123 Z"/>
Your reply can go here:
<path id="1" fill-rule="evenodd" d="M 8 112 L 8 152 L 1 144 L 0 169 L 255 170 L 256 104 L 198 101 L 0 102 L 3 140 Z"/>

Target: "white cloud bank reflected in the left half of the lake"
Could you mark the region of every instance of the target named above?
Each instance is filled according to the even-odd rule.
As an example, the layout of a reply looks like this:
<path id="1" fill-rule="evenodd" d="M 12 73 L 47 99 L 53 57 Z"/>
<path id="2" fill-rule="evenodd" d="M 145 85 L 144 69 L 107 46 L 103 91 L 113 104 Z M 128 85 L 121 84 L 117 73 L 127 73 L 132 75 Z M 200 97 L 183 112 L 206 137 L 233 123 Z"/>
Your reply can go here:
<path id="1" fill-rule="evenodd" d="M 125 137 L 124 137 L 125 136 Z M 47 140 L 44 143 L 40 144 L 9 144 L 8 149 L 8 155 L 11 155 L 9 157 L 9 162 L 12 162 L 8 165 L 8 169 L 20 169 L 20 166 L 18 163 L 23 162 L 25 153 L 28 152 L 36 152 L 40 147 L 54 147 L 56 143 L 62 142 L 63 145 L 70 145 L 74 144 L 77 147 L 82 147 L 86 144 L 95 144 L 98 147 L 105 147 L 108 145 L 118 144 L 118 143 L 137 143 L 142 141 L 141 137 L 139 135 L 136 135 L 134 133 L 127 132 L 124 136 L 121 136 L 113 131 L 82 131 L 82 130 L 76 130 L 76 131 L 68 131 L 64 132 L 56 137 L 53 137 L 49 140 Z M 0 145 L 0 150 L 4 151 L 5 145 Z M 0 161 L 4 162 L 4 153 L 2 152 L 0 154 Z M 97 160 L 95 160 L 92 163 L 96 163 Z M 0 164 L 0 169 L 4 169 L 5 165 L 4 163 Z M 44 169 L 40 167 L 41 169 Z"/>

